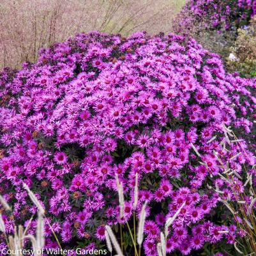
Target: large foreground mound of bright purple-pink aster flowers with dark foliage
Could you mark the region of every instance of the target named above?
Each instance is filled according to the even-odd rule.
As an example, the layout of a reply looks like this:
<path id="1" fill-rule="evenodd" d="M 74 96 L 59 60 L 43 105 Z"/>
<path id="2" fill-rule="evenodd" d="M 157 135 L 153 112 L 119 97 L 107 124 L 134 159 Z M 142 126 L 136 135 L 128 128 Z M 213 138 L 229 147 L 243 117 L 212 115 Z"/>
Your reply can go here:
<path id="1" fill-rule="evenodd" d="M 209 184 L 236 200 L 229 183 L 221 182 L 223 165 L 244 176 L 242 167 L 255 164 L 242 138 L 253 125 L 246 116 L 255 113 L 255 84 L 225 73 L 220 57 L 174 34 L 79 34 L 41 50 L 35 64 L 4 70 L 0 193 L 13 205 L 13 216 L 3 215 L 6 232 L 13 232 L 13 219 L 24 222 L 37 211 L 22 188 L 26 183 L 63 246 L 95 246 L 105 239 L 105 224 L 129 222 L 144 202 L 146 255 L 157 255 L 165 220 L 184 203 L 170 227 L 167 253 L 234 243 L 239 230 L 223 218 L 229 211 Z M 223 151 L 228 126 L 241 137 Z M 242 190 L 237 181 L 236 192 Z M 48 247 L 57 246 L 48 224 L 45 236 Z"/>

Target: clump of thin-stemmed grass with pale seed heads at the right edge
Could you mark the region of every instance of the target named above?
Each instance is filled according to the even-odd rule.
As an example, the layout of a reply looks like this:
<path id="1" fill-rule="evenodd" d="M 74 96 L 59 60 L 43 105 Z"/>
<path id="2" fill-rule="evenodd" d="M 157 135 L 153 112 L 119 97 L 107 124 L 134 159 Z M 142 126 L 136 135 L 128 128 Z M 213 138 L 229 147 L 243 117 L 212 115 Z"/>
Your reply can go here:
<path id="1" fill-rule="evenodd" d="M 228 239 L 234 244 L 236 252 L 241 255 L 253 255 L 256 253 L 256 194 L 255 188 L 253 188 L 255 179 L 252 179 L 252 176 L 255 173 L 256 165 L 253 165 L 250 170 L 245 169 L 244 172 L 236 170 L 236 166 L 232 166 L 232 160 L 246 153 L 243 145 L 245 140 L 237 138 L 230 127 L 223 125 L 223 128 L 225 137 L 223 138 L 222 154 L 214 151 L 215 157 L 222 166 L 222 174 L 219 174 L 221 179 L 215 181 L 213 190 L 219 194 L 219 202 L 229 209 L 231 213 L 229 218 L 234 220 L 234 225 L 231 230 L 218 232 L 227 234 Z M 226 143 L 228 146 L 225 146 Z M 225 162 L 223 154 L 226 153 L 231 157 Z M 234 237 L 234 232 L 237 232 L 237 237 Z"/>

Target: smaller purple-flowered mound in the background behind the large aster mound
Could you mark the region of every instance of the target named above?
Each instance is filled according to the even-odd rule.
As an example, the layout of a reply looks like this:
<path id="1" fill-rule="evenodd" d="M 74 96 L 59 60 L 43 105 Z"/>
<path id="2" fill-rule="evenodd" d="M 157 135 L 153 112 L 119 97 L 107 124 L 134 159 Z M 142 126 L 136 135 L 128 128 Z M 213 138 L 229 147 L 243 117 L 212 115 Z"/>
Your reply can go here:
<path id="1" fill-rule="evenodd" d="M 255 14 L 255 0 L 190 0 L 177 17 L 176 30 L 227 30 L 245 26 Z"/>

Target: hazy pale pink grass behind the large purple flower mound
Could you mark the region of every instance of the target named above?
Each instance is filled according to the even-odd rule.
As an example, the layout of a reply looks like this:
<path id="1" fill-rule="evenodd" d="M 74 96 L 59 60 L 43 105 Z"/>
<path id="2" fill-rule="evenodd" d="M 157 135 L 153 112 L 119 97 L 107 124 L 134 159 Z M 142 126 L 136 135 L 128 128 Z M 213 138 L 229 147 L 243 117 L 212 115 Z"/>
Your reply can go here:
<path id="1" fill-rule="evenodd" d="M 34 62 L 38 50 L 80 32 L 169 33 L 186 0 L 1 0 L 0 69 Z"/>

